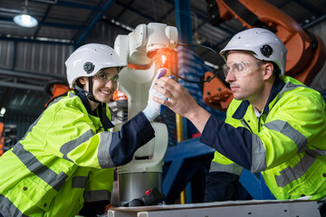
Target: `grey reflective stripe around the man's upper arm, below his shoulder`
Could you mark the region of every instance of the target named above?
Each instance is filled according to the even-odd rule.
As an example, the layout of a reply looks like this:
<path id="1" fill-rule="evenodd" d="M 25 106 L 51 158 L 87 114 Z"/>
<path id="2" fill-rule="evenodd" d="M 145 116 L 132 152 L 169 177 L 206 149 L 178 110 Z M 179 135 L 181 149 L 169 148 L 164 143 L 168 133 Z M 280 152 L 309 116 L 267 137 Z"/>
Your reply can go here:
<path id="1" fill-rule="evenodd" d="M 273 120 L 266 123 L 264 127 L 273 129 L 277 132 L 282 133 L 286 137 L 290 137 L 298 148 L 298 154 L 302 153 L 308 146 L 308 140 L 298 130 L 289 125 L 283 120 Z"/>

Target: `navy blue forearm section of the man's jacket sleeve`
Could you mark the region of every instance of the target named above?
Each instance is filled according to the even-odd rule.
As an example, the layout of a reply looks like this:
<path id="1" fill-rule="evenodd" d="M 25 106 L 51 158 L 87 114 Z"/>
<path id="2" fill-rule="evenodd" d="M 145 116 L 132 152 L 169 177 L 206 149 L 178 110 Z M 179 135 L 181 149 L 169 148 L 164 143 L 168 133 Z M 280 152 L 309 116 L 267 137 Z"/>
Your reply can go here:
<path id="1" fill-rule="evenodd" d="M 245 127 L 232 127 L 224 121 L 211 116 L 200 142 L 211 146 L 237 165 L 250 171 L 252 165 L 252 134 Z"/>

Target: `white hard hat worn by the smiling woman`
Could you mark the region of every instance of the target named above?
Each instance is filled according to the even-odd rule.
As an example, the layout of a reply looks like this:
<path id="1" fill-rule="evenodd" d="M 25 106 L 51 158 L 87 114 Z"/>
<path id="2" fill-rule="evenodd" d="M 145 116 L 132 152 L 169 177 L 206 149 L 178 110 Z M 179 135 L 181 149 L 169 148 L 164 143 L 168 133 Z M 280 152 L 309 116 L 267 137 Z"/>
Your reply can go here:
<path id="1" fill-rule="evenodd" d="M 101 43 L 88 43 L 72 52 L 65 61 L 69 87 L 80 77 L 91 77 L 98 71 L 110 67 L 123 67 L 119 55 L 110 46 Z"/>

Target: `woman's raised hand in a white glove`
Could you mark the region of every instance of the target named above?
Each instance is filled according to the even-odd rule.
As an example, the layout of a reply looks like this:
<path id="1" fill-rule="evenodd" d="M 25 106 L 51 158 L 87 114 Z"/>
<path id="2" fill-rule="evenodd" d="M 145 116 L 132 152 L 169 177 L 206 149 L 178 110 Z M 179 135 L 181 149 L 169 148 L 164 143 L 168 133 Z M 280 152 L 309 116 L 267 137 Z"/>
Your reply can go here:
<path id="1" fill-rule="evenodd" d="M 157 90 L 153 89 L 154 85 L 157 85 L 155 83 L 155 80 L 158 80 L 159 78 L 163 77 L 164 75 L 167 74 L 166 69 L 158 69 L 158 75 L 157 77 L 153 80 L 150 89 L 149 89 L 149 101 L 148 101 L 148 106 L 146 109 L 143 110 L 143 113 L 145 114 L 146 118 L 149 119 L 149 121 L 153 121 L 155 118 L 158 117 L 165 109 L 167 109 L 166 106 L 160 105 L 159 103 L 153 101 L 153 97 L 157 97 L 160 99 L 166 99 L 162 94 L 160 94 Z"/>

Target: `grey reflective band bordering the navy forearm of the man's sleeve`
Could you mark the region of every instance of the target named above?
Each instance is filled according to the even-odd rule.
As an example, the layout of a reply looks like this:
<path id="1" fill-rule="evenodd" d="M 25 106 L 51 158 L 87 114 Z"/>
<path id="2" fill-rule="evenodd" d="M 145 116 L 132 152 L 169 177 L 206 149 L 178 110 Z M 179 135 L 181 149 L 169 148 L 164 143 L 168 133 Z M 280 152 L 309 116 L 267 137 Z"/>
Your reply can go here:
<path id="1" fill-rule="evenodd" d="M 257 173 L 266 169 L 266 150 L 262 140 L 256 134 L 252 136 L 252 159 L 252 166 L 250 168 L 252 173 Z"/>

